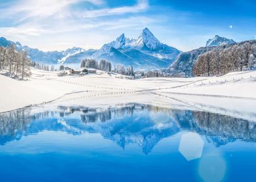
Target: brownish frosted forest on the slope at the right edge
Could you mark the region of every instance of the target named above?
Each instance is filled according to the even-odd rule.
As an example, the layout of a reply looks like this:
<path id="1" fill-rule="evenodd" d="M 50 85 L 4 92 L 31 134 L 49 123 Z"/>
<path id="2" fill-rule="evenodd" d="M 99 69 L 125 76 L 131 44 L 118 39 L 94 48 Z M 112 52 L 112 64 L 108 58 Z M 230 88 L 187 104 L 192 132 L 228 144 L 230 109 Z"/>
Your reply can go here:
<path id="1" fill-rule="evenodd" d="M 256 63 L 256 42 L 220 46 L 199 56 L 193 66 L 194 75 L 224 75 L 252 70 Z"/>

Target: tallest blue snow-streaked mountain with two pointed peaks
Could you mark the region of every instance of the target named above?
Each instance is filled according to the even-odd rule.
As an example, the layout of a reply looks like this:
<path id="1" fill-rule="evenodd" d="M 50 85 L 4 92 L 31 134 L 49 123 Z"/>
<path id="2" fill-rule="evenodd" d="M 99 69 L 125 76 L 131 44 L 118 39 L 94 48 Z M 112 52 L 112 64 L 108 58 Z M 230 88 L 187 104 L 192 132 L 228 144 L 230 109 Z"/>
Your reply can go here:
<path id="1" fill-rule="evenodd" d="M 106 59 L 113 64 L 133 65 L 139 69 L 156 69 L 166 68 L 179 53 L 178 49 L 162 44 L 146 28 L 136 39 L 121 34 L 115 41 L 104 44 L 91 57 L 96 60 Z"/>

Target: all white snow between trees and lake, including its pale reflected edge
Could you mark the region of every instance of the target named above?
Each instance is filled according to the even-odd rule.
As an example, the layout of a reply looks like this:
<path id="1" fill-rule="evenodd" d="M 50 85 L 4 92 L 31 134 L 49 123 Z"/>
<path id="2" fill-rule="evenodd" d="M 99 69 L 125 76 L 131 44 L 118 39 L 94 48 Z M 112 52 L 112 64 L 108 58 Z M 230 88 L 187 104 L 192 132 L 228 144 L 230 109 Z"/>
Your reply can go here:
<path id="1" fill-rule="evenodd" d="M 65 99 L 68 97 L 80 98 L 76 99 L 78 103 L 81 101 L 88 105 L 138 102 L 161 107 L 175 105 L 177 109 L 193 109 L 191 105 L 194 107 L 197 105 L 195 107 L 197 109 L 221 108 L 227 105 L 231 114 L 232 110 L 240 109 L 240 105 L 235 103 L 242 98 L 249 98 L 246 100 L 251 102 L 251 104 L 248 104 L 251 105 L 251 108 L 256 106 L 255 71 L 229 73 L 221 77 L 148 78 L 139 80 L 118 79 L 120 75 L 108 75 L 102 71 L 82 76 L 65 77 L 57 77 L 57 72 L 35 69 L 32 70 L 32 73 L 32 77 L 27 81 L 17 81 L 0 75 L 2 88 L 0 90 L 0 112 L 56 99 L 57 101 L 61 101 L 61 99 L 68 100 Z M 84 99 L 85 96 L 90 97 Z M 217 100 L 219 102 L 216 102 Z M 74 103 L 72 99 L 71 103 Z M 208 105 L 212 107 L 207 107 Z M 221 109 L 219 110 L 219 112 L 222 112 Z M 251 109 L 248 110 L 250 113 L 253 112 Z"/>

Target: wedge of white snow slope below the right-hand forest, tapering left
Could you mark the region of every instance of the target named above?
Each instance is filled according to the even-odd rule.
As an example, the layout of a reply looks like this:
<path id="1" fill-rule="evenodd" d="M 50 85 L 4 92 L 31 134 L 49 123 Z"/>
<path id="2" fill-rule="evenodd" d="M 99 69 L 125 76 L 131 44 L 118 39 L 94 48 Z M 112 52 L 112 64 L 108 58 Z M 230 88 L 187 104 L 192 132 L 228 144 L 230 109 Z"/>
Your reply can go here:
<path id="1" fill-rule="evenodd" d="M 256 98 L 256 72 L 234 72 L 221 77 L 201 77 L 197 82 L 165 89 L 165 92 L 232 98 Z"/>

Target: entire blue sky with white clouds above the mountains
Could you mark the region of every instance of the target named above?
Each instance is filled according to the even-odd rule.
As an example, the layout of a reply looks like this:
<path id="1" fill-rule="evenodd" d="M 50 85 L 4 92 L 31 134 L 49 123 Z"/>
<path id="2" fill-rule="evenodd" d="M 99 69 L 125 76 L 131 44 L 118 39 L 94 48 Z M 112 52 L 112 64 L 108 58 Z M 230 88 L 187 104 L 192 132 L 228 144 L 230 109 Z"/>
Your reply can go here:
<path id="1" fill-rule="evenodd" d="M 216 34 L 256 38 L 254 0 L 0 0 L 0 36 L 42 51 L 99 49 L 145 27 L 164 44 L 197 49 Z"/>

